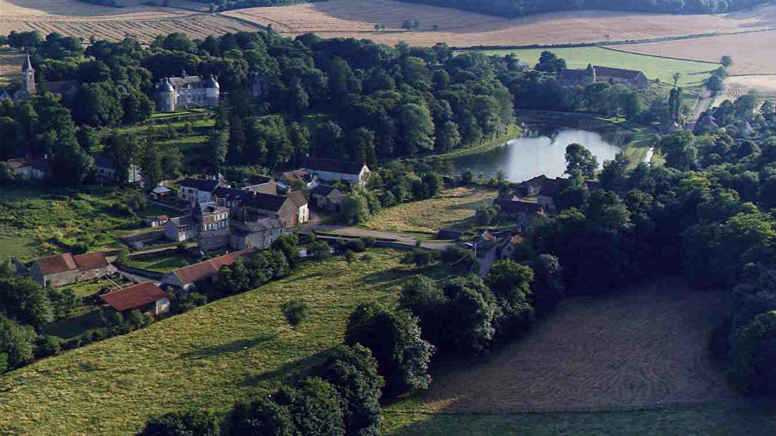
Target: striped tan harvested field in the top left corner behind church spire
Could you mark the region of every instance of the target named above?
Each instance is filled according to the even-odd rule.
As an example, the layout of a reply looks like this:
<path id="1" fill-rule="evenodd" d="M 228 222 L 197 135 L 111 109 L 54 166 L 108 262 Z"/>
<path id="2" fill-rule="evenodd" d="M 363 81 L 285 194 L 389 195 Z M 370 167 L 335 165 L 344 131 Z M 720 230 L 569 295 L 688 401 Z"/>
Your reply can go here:
<path id="1" fill-rule="evenodd" d="M 228 17 L 182 9 L 145 6 L 109 8 L 75 0 L 50 0 L 51 5 L 67 6 L 47 9 L 41 5 L 43 2 L 32 0 L 30 3 L 37 7 L 25 8 L 21 5 L 26 5 L 27 2 L 3 0 L 0 33 L 37 30 L 43 35 L 58 32 L 66 36 L 88 38 L 94 35 L 98 39 L 109 40 L 120 40 L 126 35 L 133 35 L 147 42 L 153 40 L 154 36 L 172 32 L 184 32 L 192 38 L 203 38 L 208 35 L 257 29 L 257 26 Z M 9 13 L 6 13 L 7 10 Z M 47 10 L 51 13 L 44 12 Z"/>

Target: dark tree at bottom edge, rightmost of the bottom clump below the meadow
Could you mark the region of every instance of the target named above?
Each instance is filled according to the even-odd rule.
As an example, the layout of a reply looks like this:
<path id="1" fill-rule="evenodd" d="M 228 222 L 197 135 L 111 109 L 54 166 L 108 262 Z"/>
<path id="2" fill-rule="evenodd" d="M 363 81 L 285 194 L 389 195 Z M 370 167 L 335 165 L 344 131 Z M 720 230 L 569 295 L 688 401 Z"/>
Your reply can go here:
<path id="1" fill-rule="evenodd" d="M 380 396 L 385 380 L 369 348 L 338 345 L 315 374 L 337 389 L 348 436 L 379 436 Z"/>

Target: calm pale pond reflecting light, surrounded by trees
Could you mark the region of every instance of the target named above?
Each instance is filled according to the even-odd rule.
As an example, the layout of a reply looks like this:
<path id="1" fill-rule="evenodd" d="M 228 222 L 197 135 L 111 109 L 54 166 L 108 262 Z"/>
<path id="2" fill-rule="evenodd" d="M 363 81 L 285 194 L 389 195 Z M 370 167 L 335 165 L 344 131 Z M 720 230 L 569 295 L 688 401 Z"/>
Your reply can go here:
<path id="1" fill-rule="evenodd" d="M 534 136 L 535 135 L 535 136 Z M 620 150 L 599 133 L 588 130 L 563 129 L 556 133 L 534 133 L 519 137 L 504 147 L 476 156 L 462 157 L 455 162 L 456 173 L 469 168 L 474 175 L 496 175 L 504 170 L 511 182 L 521 182 L 536 175 L 559 177 L 566 171 L 566 145 L 573 142 L 584 145 L 598 158 L 599 167 L 612 159 Z"/>

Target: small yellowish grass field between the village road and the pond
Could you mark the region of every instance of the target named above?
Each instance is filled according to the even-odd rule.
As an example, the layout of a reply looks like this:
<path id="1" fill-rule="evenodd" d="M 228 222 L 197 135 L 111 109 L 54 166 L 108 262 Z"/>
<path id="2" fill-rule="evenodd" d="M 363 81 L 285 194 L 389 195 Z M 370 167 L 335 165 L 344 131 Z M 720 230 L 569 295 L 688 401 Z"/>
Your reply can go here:
<path id="1" fill-rule="evenodd" d="M 435 234 L 446 227 L 469 227 L 481 205 L 493 202 L 495 189 L 442 189 L 434 199 L 408 202 L 384 209 L 362 227 L 374 230 Z"/>

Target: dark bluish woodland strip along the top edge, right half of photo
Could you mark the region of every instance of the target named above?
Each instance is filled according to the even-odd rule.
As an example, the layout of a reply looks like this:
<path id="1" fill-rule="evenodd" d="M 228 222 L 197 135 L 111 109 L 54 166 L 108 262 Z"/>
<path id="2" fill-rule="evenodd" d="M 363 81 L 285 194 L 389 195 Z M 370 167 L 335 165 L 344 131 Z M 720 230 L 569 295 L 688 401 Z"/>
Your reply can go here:
<path id="1" fill-rule="evenodd" d="M 516 17 L 541 12 L 577 11 L 580 9 L 667 12 L 667 13 L 718 13 L 747 9 L 765 3 L 764 0 L 629 0 L 612 2 L 611 0 L 552 0 L 550 2 L 532 2 L 529 0 L 402 0 L 409 3 L 436 5 L 445 8 L 464 9 L 494 16 Z"/>

